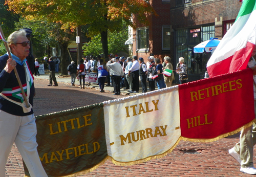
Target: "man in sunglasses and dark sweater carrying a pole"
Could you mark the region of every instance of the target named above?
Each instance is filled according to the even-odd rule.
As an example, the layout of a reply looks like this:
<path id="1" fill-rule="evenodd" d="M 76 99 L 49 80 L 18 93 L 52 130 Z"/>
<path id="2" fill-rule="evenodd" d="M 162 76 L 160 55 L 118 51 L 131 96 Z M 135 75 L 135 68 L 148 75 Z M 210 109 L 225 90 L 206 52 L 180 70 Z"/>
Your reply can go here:
<path id="1" fill-rule="evenodd" d="M 0 176 L 5 176 L 5 165 L 15 142 L 28 167 L 30 176 L 46 177 L 40 162 L 36 143 L 36 124 L 32 110 L 35 93 L 33 76 L 26 57 L 29 40 L 25 31 L 13 32 L 7 40 L 11 57 L 0 57 Z M 16 67 L 30 106 L 24 106 L 24 98 L 14 73 Z"/>

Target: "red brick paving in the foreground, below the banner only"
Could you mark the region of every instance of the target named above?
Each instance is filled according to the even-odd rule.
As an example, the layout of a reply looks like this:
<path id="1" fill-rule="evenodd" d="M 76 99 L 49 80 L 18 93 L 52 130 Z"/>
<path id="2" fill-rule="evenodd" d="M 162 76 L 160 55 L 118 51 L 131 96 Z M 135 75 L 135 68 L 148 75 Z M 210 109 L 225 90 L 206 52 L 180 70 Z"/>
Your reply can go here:
<path id="1" fill-rule="evenodd" d="M 164 158 L 132 166 L 117 166 L 107 161 L 91 173 L 81 176 L 252 176 L 240 172 L 240 165 L 228 154 L 228 149 L 238 141 L 238 137 L 223 138 L 212 143 L 181 141 Z M 24 175 L 22 159 L 15 146 L 6 168 L 6 176 Z"/>

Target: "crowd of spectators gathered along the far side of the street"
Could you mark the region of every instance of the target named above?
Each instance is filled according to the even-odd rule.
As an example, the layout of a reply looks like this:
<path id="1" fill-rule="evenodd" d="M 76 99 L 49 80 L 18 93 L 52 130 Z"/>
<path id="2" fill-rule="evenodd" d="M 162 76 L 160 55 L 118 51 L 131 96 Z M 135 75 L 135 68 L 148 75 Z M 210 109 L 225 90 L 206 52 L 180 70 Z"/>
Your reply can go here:
<path id="1" fill-rule="evenodd" d="M 80 64 L 77 66 L 74 61 L 71 61 L 67 68 L 71 76 L 71 84 L 75 85 L 77 77 L 80 89 L 84 89 L 85 85 L 91 85 L 88 80 L 84 79 L 85 76 L 89 73 L 94 73 L 97 76 L 95 80 L 98 80 L 100 92 L 104 92 L 104 86 L 113 86 L 113 95 L 120 95 L 121 88 L 129 93 L 139 93 L 139 78 L 142 93 L 147 92 L 147 82 L 149 91 L 154 91 L 156 85 L 158 89 L 172 86 L 174 74 L 170 76 L 164 75 L 163 72 L 166 69 L 177 72 L 180 75 L 180 83 L 185 83 L 187 80 L 187 78 L 182 79 L 184 75 L 187 75 L 183 57 L 180 58 L 180 66 L 176 70 L 173 70 L 173 65 L 168 56 L 164 57 L 163 63 L 159 58 L 155 58 L 154 54 L 148 56 L 147 62 L 142 57 L 138 58 L 137 56 L 125 58 L 124 56 L 119 57 L 110 54 L 108 58 L 103 58 L 103 54 L 86 56 L 86 58 L 80 60 Z"/>

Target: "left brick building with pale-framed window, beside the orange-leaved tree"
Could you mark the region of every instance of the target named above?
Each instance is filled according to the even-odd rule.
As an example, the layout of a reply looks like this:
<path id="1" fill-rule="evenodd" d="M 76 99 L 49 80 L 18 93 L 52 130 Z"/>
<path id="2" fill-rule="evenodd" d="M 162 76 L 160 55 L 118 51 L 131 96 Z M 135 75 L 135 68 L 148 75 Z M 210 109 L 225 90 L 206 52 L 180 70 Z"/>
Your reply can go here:
<path id="1" fill-rule="evenodd" d="M 150 26 L 137 23 L 133 30 L 133 55 L 145 61 L 150 53 L 160 59 L 170 56 L 170 1 L 151 0 L 151 4 L 158 16 L 148 17 Z M 136 18 L 133 20 L 136 23 Z"/>

